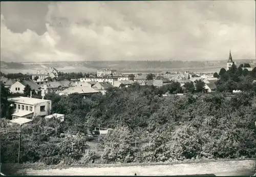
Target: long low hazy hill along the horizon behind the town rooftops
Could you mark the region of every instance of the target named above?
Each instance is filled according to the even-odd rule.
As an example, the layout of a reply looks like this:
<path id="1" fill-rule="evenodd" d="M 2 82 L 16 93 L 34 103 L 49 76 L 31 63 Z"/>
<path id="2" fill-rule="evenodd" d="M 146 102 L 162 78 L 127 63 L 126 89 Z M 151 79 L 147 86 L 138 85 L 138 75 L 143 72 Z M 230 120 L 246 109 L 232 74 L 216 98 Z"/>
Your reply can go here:
<path id="1" fill-rule="evenodd" d="M 252 59 L 234 60 L 239 66 Z M 161 71 L 219 71 L 226 68 L 226 60 L 222 61 L 59 61 L 59 62 L 6 62 L 1 61 L 4 70 L 40 70 L 53 67 L 63 72 L 92 72 L 98 69 L 114 69 L 118 72 L 161 72 Z"/>

